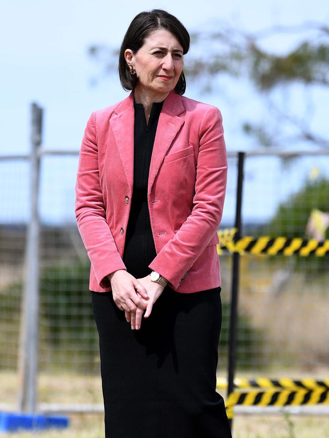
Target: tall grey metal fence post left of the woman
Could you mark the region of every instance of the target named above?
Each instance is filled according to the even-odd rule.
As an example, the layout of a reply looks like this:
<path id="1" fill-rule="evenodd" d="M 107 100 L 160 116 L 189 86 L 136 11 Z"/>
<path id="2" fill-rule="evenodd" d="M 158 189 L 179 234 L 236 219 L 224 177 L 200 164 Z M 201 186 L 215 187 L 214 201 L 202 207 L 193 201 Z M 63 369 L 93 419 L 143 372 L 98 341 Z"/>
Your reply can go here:
<path id="1" fill-rule="evenodd" d="M 19 399 L 21 412 L 36 412 L 39 316 L 39 147 L 42 142 L 43 109 L 31 105 L 30 218 L 27 228 L 24 296 L 19 347 Z"/>

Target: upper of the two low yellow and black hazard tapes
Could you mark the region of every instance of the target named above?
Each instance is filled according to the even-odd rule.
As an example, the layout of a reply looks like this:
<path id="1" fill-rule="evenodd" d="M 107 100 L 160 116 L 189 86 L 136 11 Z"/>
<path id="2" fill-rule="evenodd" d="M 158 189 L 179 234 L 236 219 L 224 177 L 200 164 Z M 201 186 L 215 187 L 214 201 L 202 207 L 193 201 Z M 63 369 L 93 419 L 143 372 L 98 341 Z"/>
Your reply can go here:
<path id="1" fill-rule="evenodd" d="M 279 378 L 270 379 L 269 377 L 258 377 L 256 379 L 235 378 L 233 382 L 234 388 L 262 388 L 262 389 L 329 389 L 329 379 L 315 380 L 310 378 L 305 379 L 291 379 L 291 378 Z M 227 388 L 227 379 L 218 378 L 217 388 Z"/>

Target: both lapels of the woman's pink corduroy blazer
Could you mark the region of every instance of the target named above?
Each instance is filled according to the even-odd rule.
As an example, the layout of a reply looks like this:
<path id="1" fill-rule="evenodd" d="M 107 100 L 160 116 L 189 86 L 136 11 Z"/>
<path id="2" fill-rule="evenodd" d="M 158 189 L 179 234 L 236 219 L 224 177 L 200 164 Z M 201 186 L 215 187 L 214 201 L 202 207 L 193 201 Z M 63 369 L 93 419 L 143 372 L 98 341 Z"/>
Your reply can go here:
<path id="1" fill-rule="evenodd" d="M 181 96 L 174 90 L 171 91 L 163 102 L 156 128 L 148 177 L 148 195 L 162 160 L 184 123 L 184 119 L 179 117 L 184 111 Z M 133 90 L 115 109 L 110 118 L 111 128 L 131 192 L 134 184 L 134 119 Z"/>

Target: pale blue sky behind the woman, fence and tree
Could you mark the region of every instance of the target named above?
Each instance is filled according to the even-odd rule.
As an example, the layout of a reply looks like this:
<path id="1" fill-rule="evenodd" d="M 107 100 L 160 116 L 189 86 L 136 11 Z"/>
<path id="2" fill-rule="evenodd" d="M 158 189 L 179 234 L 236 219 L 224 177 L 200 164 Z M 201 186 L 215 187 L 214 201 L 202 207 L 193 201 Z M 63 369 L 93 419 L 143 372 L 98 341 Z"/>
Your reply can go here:
<path id="1" fill-rule="evenodd" d="M 29 151 L 32 102 L 45 109 L 43 147 L 78 151 L 91 112 L 128 96 L 115 74 L 102 79 L 96 87 L 90 85 L 91 78 L 101 74 L 101 66 L 88 57 L 88 47 L 95 44 L 119 47 L 135 15 L 153 8 L 165 9 L 174 14 L 189 32 L 218 28 L 221 24 L 255 32 L 274 25 L 294 26 L 306 21 L 327 22 L 329 19 L 329 6 L 322 0 L 210 0 L 195 3 L 186 0 L 2 0 L 0 155 Z M 273 52 L 285 53 L 296 45 L 298 38 L 298 35 L 284 34 L 264 39 L 262 44 Z M 290 93 L 289 104 L 299 108 L 300 93 L 298 90 Z M 232 81 L 226 83 L 223 78 L 219 91 L 214 95 L 203 96 L 197 87 L 188 85 L 185 96 L 220 108 L 228 151 L 253 147 L 242 136 L 240 129 L 241 116 L 250 115 L 256 120 L 262 116 L 262 106 L 254 99 L 254 91 L 250 87 L 240 85 L 234 88 Z M 323 90 L 314 90 L 312 99 L 316 107 L 313 112 L 314 127 L 325 134 L 327 119 L 324 113 L 327 112 L 327 99 L 323 98 Z M 66 158 L 65 164 L 62 158 L 45 159 L 40 209 L 49 220 L 56 215 L 63 217 L 63 211 L 70 209 L 71 203 L 66 199 L 63 202 L 63 196 L 72 198 L 76 162 L 74 157 Z M 306 173 L 310 167 L 309 163 L 306 164 Z M 4 163 L 0 161 L 0 194 L 10 204 L 11 209 L 11 213 L 7 209 L 6 213 L 0 212 L 1 221 L 19 219 L 28 214 L 27 174 L 24 163 L 6 163 L 4 169 Z M 233 174 L 232 171 L 232 178 Z M 60 187 L 57 192 L 56 187 Z M 227 198 L 228 213 L 234 210 L 233 180 L 228 193 L 230 191 L 232 196 Z M 282 191 L 287 191 L 284 185 Z M 49 202 L 50 192 L 54 194 L 54 199 L 58 199 L 57 203 Z M 12 200 L 14 198 L 20 199 L 20 213 Z M 248 211 L 248 205 L 245 208 Z M 274 203 L 260 206 L 259 211 L 255 213 L 254 210 L 254 215 L 265 217 L 265 213 L 274 208 Z M 69 218 L 72 218 L 72 214 L 68 214 L 67 219 Z"/>

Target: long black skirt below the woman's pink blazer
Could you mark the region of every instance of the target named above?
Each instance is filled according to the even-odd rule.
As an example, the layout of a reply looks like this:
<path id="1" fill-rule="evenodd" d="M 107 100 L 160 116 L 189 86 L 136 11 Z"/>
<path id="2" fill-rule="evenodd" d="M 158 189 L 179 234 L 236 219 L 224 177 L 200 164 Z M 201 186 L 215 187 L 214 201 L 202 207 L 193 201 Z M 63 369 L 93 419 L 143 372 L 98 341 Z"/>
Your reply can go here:
<path id="1" fill-rule="evenodd" d="M 132 330 L 112 292 L 92 292 L 106 438 L 230 438 L 216 392 L 221 288 L 169 286 Z"/>

